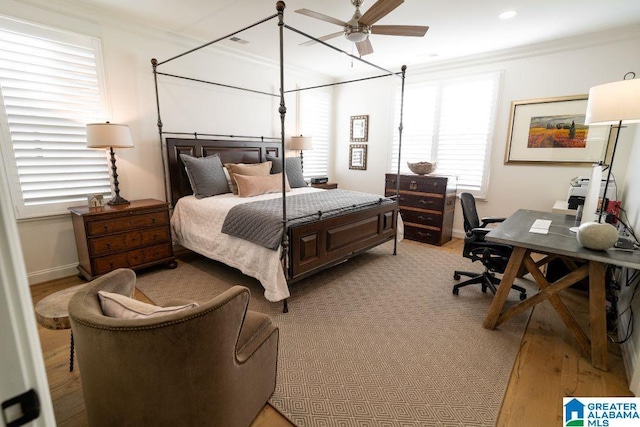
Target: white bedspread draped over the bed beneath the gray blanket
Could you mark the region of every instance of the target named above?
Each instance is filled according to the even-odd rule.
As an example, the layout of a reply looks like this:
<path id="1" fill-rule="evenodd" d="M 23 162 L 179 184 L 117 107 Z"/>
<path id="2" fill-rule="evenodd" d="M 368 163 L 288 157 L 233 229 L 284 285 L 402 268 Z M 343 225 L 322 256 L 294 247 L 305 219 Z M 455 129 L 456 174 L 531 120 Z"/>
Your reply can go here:
<path id="1" fill-rule="evenodd" d="M 319 190 L 312 187 L 295 188 L 287 197 Z M 181 246 L 237 268 L 247 276 L 255 277 L 264 287 L 264 297 L 272 302 L 289 297 L 289 287 L 280 262 L 281 248 L 267 249 L 248 240 L 221 232 L 222 224 L 233 206 L 281 197 L 281 193 L 256 197 L 238 197 L 234 194 L 196 199 L 186 196 L 178 200 L 171 217 L 173 239 Z M 402 240 L 403 224 L 398 215 L 397 239 Z"/>

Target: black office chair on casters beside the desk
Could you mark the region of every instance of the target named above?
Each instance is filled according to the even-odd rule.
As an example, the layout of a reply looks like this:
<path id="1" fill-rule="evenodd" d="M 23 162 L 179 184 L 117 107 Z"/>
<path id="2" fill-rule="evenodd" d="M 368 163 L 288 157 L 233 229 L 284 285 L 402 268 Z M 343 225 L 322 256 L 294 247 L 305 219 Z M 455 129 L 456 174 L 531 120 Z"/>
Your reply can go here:
<path id="1" fill-rule="evenodd" d="M 484 272 L 481 274 L 469 271 L 458 271 L 453 273 L 455 280 L 460 280 L 460 276 L 467 276 L 470 279 L 453 286 L 453 294 L 458 295 L 460 288 L 479 283 L 482 292 L 496 293 L 496 287 L 500 284 L 500 279 L 496 273 L 504 273 L 513 247 L 501 243 L 493 243 L 484 240 L 484 236 L 491 230 L 486 228 L 488 224 L 502 222 L 505 218 L 486 217 L 482 218 L 482 223 L 478 218 L 476 201 L 472 194 L 461 193 L 460 204 L 462 205 L 462 215 L 464 217 L 464 248 L 462 256 L 471 261 L 480 261 L 484 265 Z M 527 298 L 527 290 L 523 287 L 513 285 L 511 289 L 520 292 L 520 300 Z"/>

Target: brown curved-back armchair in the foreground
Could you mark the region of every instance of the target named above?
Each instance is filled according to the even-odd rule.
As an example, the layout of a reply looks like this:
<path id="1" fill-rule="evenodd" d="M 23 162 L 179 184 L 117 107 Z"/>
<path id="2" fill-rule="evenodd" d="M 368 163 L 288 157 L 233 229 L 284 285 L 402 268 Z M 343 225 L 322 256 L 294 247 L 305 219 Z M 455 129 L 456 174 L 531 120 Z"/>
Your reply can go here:
<path id="1" fill-rule="evenodd" d="M 247 426 L 276 382 L 278 328 L 234 286 L 181 312 L 103 315 L 98 291 L 131 295 L 119 269 L 73 296 L 69 317 L 91 426 Z"/>

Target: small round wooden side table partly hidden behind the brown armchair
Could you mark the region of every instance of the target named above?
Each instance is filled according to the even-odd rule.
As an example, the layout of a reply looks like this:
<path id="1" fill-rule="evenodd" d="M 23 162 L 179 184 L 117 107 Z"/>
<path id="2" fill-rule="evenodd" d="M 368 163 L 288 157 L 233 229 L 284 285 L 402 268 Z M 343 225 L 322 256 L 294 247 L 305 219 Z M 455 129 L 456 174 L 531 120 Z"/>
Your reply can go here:
<path id="1" fill-rule="evenodd" d="M 86 283 L 82 285 L 72 286 L 54 292 L 51 295 L 38 301 L 35 307 L 36 320 L 40 326 L 47 329 L 71 329 L 69 321 L 69 301 L 71 297 L 80 290 Z M 73 331 L 71 332 L 71 340 L 69 344 L 69 372 L 73 371 Z"/>

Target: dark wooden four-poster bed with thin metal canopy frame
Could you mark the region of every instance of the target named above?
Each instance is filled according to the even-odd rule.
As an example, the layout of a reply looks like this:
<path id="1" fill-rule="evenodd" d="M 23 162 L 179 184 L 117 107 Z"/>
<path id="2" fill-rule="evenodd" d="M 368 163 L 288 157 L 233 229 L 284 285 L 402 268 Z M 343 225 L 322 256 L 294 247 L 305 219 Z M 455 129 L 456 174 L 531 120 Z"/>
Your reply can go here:
<path id="1" fill-rule="evenodd" d="M 163 148 L 163 167 L 165 170 L 165 190 L 167 199 L 174 207 L 172 226 L 174 239 L 182 246 L 201 253 L 209 258 L 221 261 L 232 267 L 240 269 L 243 273 L 257 278 L 265 288 L 265 297 L 270 301 L 284 301 L 284 311 L 287 311 L 287 298 L 289 296 L 288 284 L 294 283 L 318 271 L 336 265 L 359 253 L 369 250 L 381 243 L 396 240 L 397 227 L 399 222 L 398 206 L 395 200 L 390 200 L 382 196 L 376 196 L 374 201 L 352 203 L 341 209 L 318 209 L 317 215 L 313 219 L 305 221 L 294 221 L 299 218 L 292 218 L 287 207 L 288 200 L 294 201 L 309 197 L 306 194 L 316 190 L 311 188 L 295 188 L 287 194 L 287 173 L 281 173 L 281 185 L 279 194 L 261 195 L 257 199 L 272 199 L 277 197 L 282 205 L 281 220 L 281 245 L 280 250 L 271 250 L 264 247 L 257 247 L 254 243 L 244 241 L 237 237 L 220 233 L 220 220 L 224 220 L 227 210 L 246 200 L 238 201 L 238 196 L 230 194 L 220 194 L 208 198 L 196 198 L 192 196 L 192 178 L 185 171 L 183 163 L 184 156 L 195 158 L 206 158 L 217 156 L 222 164 L 256 164 L 267 161 L 267 158 L 277 159 L 282 162 L 282 169 L 287 170 L 285 165 L 291 160 L 285 157 L 285 115 L 286 106 L 284 101 L 285 93 L 301 90 L 316 89 L 319 87 L 332 86 L 335 84 L 351 83 L 368 80 L 371 78 L 397 76 L 402 79 L 402 95 L 404 94 L 404 77 L 406 67 L 402 67 L 402 72 L 392 73 L 378 66 L 368 63 L 358 57 L 352 58 L 371 65 L 379 70 L 384 70 L 386 74 L 368 77 L 349 82 L 333 83 L 329 85 L 307 87 L 290 91 L 284 90 L 284 61 L 283 61 L 283 29 L 289 29 L 331 49 L 341 50 L 328 45 L 321 40 L 317 40 L 299 30 L 284 24 L 283 2 L 276 4 L 277 14 L 268 17 L 250 27 L 246 27 L 233 34 L 227 35 L 210 43 L 192 49 L 188 52 L 170 58 L 163 62 L 152 59 L 154 81 L 156 87 L 156 105 L 158 113 L 158 131 L 160 144 Z M 221 83 L 203 81 L 189 77 L 166 74 L 158 71 L 158 67 L 209 46 L 220 40 L 224 40 L 254 27 L 258 24 L 278 18 L 279 39 L 280 39 L 280 136 L 279 137 L 238 137 L 233 135 L 220 134 L 199 134 L 186 132 L 167 132 L 163 130 L 160 114 L 160 97 L 158 91 L 158 76 L 187 79 L 199 83 L 207 83 L 237 90 L 246 90 L 253 93 L 260 93 L 268 96 L 276 96 L 268 92 L 260 92 L 252 89 L 230 86 Z M 342 52 L 345 53 L 345 52 Z M 345 53 L 346 54 L 346 53 Z M 402 109 L 402 103 L 401 103 Z M 400 141 L 402 141 L 402 110 L 400 112 Z M 166 154 L 166 163 L 165 163 Z M 398 160 L 399 173 L 400 160 Z M 167 179 L 168 178 L 168 179 Z M 166 188 L 167 181 L 170 188 Z M 338 194 L 342 190 L 331 190 Z M 360 193 L 363 195 L 364 193 Z M 291 199 L 290 199 L 291 197 Z M 312 198 L 317 198 L 316 196 Z M 253 199 L 253 198 L 252 198 Z M 360 200 L 354 193 L 354 199 Z M 364 200 L 364 199 L 363 199 Z M 250 204 L 250 203 L 249 203 Z M 255 202 L 258 204 L 258 202 Z M 208 206 L 208 207 L 207 207 Z M 226 210 L 210 213 L 211 210 L 226 206 Z M 203 210 L 204 209 L 204 210 Z M 338 213 L 340 211 L 340 213 Z M 311 215 L 305 215 L 310 217 Z M 192 218 L 197 218 L 192 220 Z M 295 225 L 293 225 L 295 222 Z M 252 246 L 253 245 L 253 246 Z M 397 246 L 394 245 L 394 254 Z"/>

